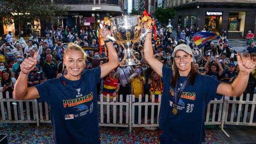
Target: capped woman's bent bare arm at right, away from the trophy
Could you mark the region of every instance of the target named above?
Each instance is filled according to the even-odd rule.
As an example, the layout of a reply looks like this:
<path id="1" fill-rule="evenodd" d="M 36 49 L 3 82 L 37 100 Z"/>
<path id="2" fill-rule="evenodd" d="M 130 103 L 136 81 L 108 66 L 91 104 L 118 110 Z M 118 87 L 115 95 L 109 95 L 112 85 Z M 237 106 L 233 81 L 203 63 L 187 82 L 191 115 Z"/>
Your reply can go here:
<path id="1" fill-rule="evenodd" d="M 249 80 L 250 72 L 255 68 L 256 63 L 250 57 L 240 58 L 237 55 L 237 62 L 239 66 L 239 74 L 232 84 L 221 83 L 217 88 L 217 94 L 228 96 L 240 96 L 246 89 Z"/>

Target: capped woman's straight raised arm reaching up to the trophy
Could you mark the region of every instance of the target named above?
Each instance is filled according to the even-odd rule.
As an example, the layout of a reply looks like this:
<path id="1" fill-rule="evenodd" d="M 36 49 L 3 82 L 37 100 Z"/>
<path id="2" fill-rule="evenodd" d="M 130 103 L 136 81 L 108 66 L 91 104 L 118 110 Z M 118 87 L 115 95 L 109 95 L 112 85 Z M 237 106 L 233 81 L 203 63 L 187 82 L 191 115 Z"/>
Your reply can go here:
<path id="1" fill-rule="evenodd" d="M 145 28 L 145 30 L 148 29 L 148 22 L 144 23 L 144 28 Z M 151 35 L 152 35 L 152 26 L 150 26 L 150 31 L 147 33 L 147 35 L 145 37 L 144 57 L 145 57 L 145 60 L 150 65 L 150 67 L 153 70 L 155 70 L 156 73 L 159 74 L 159 76 L 163 77 L 163 74 L 162 74 L 163 63 L 156 60 L 154 55 L 153 55 Z"/>

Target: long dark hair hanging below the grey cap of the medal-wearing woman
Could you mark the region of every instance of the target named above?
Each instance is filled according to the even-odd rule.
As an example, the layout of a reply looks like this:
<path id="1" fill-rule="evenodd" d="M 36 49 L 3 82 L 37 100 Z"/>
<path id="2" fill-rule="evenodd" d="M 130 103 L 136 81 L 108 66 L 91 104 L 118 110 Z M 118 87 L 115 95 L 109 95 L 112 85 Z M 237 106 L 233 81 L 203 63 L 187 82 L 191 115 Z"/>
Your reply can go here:
<path id="1" fill-rule="evenodd" d="M 190 55 L 190 56 L 192 57 L 192 55 Z M 172 76 L 172 78 L 171 78 L 171 85 L 172 85 L 173 87 L 176 86 L 177 80 L 178 80 L 178 78 L 179 78 L 179 76 L 180 76 L 178 67 L 176 66 L 176 63 L 175 63 L 175 59 L 176 59 L 176 58 L 174 58 L 174 60 L 173 60 L 173 76 Z M 194 83 L 195 83 L 195 78 L 196 78 L 196 76 L 197 76 L 197 72 L 196 72 L 196 70 L 195 70 L 195 66 L 194 66 L 194 63 L 193 63 L 193 62 L 191 62 L 191 70 L 190 70 L 190 72 L 189 72 L 189 75 L 190 75 L 189 84 L 190 84 L 190 85 L 194 85 Z"/>

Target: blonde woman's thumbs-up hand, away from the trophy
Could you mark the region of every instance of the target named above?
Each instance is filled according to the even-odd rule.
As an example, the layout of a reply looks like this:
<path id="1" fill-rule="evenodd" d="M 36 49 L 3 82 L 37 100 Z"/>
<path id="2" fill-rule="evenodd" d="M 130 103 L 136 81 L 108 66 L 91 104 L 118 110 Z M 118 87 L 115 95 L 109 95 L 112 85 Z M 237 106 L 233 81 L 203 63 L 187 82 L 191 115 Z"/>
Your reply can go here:
<path id="1" fill-rule="evenodd" d="M 29 74 L 31 70 L 35 68 L 37 64 L 38 52 L 35 52 L 33 57 L 28 57 L 20 64 L 20 70 L 23 74 Z"/>

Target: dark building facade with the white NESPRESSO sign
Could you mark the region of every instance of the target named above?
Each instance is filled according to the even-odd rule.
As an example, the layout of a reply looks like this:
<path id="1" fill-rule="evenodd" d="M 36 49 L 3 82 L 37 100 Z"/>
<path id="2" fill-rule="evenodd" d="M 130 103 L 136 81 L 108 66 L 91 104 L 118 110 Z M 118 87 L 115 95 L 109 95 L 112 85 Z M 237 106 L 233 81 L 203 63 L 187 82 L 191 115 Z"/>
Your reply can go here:
<path id="1" fill-rule="evenodd" d="M 169 7 L 176 10 L 174 29 L 226 30 L 228 37 L 245 37 L 249 30 L 256 33 L 256 0 L 169 0 L 165 8 Z"/>

